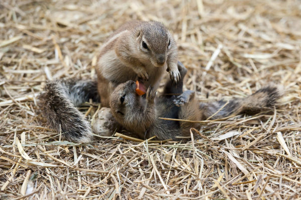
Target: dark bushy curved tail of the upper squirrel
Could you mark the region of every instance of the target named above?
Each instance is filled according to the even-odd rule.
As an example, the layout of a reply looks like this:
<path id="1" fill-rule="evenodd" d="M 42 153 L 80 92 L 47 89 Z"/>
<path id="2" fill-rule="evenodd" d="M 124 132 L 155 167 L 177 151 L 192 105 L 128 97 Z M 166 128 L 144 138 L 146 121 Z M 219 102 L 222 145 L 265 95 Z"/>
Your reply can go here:
<path id="1" fill-rule="evenodd" d="M 92 130 L 75 107 L 92 99 L 99 102 L 97 82 L 87 80 L 50 81 L 39 96 L 40 108 L 49 125 L 68 141 L 88 143 Z"/>

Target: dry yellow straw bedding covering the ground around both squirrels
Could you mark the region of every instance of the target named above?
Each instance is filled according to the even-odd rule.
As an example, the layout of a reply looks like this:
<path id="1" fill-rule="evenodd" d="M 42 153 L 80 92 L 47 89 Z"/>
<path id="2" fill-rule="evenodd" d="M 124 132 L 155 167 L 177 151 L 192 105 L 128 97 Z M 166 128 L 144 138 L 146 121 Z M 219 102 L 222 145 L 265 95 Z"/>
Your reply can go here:
<path id="1" fill-rule="evenodd" d="M 5 0 L 0 11 L 1 199 L 301 196 L 299 1 Z M 277 84 L 279 106 L 209 120 L 181 142 L 132 141 L 123 132 L 90 145 L 61 141 L 36 95 L 47 80 L 95 78 L 98 47 L 131 19 L 170 28 L 188 68 L 185 88 L 200 101 Z M 91 120 L 98 107 L 81 111 Z"/>

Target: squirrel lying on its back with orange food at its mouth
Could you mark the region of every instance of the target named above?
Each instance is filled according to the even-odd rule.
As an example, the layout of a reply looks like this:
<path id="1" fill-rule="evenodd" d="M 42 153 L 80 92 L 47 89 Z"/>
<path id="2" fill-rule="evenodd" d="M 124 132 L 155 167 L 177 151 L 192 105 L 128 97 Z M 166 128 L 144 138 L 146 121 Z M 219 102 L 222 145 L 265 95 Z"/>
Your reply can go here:
<path id="1" fill-rule="evenodd" d="M 218 119 L 239 113 L 255 114 L 271 109 L 280 92 L 277 87 L 264 87 L 252 95 L 226 101 L 199 103 L 191 90 L 183 92 L 183 78 L 187 72 L 178 65 L 181 74 L 179 86 L 171 81 L 166 85 L 164 95 L 156 98 L 156 90 L 149 86 L 146 99 L 136 94 L 136 83 L 127 81 L 116 87 L 110 97 L 111 113 L 118 123 L 141 138 L 156 136 L 159 140 L 173 139 L 189 135 L 190 128 L 199 128 L 201 121 L 211 117 Z M 215 115 L 214 115 L 215 114 Z M 159 117 L 185 119 L 189 121 L 169 121 Z"/>

